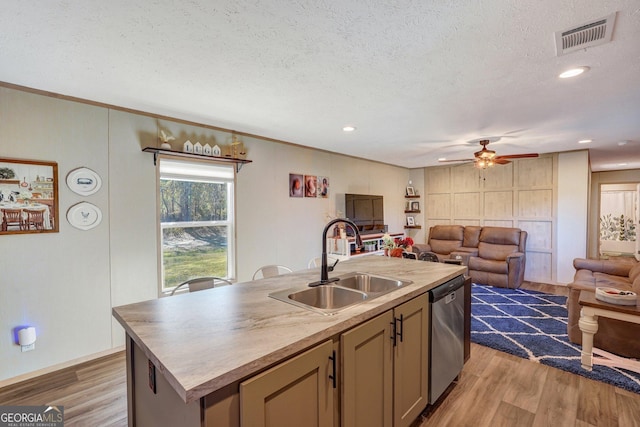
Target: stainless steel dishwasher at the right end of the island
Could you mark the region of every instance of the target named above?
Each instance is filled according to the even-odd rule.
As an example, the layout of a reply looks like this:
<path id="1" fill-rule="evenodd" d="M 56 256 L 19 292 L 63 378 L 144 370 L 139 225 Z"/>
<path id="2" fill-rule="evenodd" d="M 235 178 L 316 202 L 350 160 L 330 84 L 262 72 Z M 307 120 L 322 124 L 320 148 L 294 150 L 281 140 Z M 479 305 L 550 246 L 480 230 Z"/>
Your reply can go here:
<path id="1" fill-rule="evenodd" d="M 464 277 L 429 291 L 429 403 L 433 404 L 464 365 Z"/>

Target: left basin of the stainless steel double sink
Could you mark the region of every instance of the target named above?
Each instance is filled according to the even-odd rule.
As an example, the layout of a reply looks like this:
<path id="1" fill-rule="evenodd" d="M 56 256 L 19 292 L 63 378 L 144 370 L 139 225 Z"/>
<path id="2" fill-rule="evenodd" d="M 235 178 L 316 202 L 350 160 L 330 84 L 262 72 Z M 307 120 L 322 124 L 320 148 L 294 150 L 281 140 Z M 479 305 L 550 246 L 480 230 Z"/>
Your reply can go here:
<path id="1" fill-rule="evenodd" d="M 289 289 L 269 294 L 271 298 L 288 302 L 323 314 L 333 314 L 368 298 L 364 292 L 338 286 L 322 285 L 302 290 Z"/>

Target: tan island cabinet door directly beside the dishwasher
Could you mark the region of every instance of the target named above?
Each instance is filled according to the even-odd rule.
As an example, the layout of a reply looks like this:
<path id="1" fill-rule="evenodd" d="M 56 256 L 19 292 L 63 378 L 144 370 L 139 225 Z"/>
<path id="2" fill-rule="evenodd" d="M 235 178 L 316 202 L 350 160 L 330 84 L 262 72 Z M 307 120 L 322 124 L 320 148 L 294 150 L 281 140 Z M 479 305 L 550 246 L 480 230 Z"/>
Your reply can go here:
<path id="1" fill-rule="evenodd" d="M 396 307 L 394 315 L 393 425 L 401 427 L 411 425 L 429 403 L 428 295 Z"/>

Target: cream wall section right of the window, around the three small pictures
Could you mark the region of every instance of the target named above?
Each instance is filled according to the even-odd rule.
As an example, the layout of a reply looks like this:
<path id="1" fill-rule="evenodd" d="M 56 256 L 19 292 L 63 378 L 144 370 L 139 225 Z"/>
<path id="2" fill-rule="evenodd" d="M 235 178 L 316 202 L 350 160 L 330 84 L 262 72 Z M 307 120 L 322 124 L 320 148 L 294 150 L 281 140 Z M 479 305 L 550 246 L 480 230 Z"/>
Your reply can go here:
<path id="1" fill-rule="evenodd" d="M 344 216 L 345 193 L 381 194 L 390 231 L 403 231 L 409 171 L 389 165 L 245 138 L 251 158 L 238 174 L 238 278 L 266 264 L 306 268 L 322 252 L 328 217 Z M 330 178 L 328 199 L 289 197 L 289 173 Z"/>

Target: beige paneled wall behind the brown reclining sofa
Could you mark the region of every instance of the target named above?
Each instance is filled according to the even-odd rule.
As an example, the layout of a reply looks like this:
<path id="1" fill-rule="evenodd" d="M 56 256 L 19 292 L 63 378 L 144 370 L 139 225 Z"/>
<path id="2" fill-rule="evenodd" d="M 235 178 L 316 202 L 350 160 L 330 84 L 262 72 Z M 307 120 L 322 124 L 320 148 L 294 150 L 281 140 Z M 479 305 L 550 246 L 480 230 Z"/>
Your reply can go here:
<path id="1" fill-rule="evenodd" d="M 426 226 L 517 227 L 529 233 L 525 279 L 555 280 L 557 155 L 478 170 L 471 164 L 425 169 Z M 426 231 L 428 238 L 428 230 Z"/>

